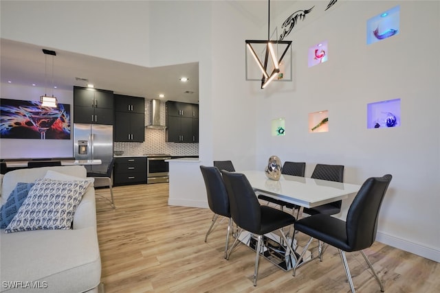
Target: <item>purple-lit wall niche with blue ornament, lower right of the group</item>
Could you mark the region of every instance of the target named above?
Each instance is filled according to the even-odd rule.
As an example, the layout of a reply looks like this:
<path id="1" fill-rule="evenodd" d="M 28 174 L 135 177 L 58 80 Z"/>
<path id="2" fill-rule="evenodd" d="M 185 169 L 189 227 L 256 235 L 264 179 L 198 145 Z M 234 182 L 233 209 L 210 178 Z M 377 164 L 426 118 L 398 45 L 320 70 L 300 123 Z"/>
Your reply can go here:
<path id="1" fill-rule="evenodd" d="M 400 99 L 375 102 L 366 106 L 366 128 L 400 126 Z"/>

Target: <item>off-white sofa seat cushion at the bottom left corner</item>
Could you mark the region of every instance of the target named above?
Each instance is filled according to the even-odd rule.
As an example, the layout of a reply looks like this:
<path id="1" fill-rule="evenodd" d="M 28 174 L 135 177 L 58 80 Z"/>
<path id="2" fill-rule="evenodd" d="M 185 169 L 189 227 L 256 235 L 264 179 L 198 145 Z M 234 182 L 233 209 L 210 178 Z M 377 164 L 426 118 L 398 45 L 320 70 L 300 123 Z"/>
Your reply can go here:
<path id="1" fill-rule="evenodd" d="M 46 282 L 44 289 L 0 292 L 85 292 L 100 283 L 96 228 L 0 232 L 1 282 Z"/>

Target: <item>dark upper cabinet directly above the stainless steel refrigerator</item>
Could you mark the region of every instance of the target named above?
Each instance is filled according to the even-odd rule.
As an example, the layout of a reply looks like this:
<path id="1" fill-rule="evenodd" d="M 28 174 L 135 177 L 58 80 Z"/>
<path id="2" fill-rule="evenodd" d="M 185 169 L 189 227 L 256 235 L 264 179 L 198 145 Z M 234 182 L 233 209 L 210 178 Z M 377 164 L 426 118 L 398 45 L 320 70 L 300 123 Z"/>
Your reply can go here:
<path id="1" fill-rule="evenodd" d="M 113 125 L 113 91 L 74 86 L 74 123 Z"/>

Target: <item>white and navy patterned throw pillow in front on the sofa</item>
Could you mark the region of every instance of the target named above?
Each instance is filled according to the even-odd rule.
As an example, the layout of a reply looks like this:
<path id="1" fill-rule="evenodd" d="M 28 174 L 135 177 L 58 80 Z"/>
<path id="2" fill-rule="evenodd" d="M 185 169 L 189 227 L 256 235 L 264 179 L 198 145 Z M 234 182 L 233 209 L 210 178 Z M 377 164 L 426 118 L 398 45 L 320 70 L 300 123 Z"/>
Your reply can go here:
<path id="1" fill-rule="evenodd" d="M 69 229 L 88 185 L 87 180 L 37 179 L 5 232 Z"/>

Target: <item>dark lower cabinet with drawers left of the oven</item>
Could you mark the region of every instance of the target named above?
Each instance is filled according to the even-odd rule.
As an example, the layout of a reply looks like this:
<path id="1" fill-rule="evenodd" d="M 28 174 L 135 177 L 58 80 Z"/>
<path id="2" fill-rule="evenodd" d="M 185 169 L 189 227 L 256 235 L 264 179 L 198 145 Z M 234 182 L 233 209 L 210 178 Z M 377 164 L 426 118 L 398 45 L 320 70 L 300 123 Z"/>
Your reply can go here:
<path id="1" fill-rule="evenodd" d="M 113 185 L 146 184 L 146 157 L 115 157 Z"/>

